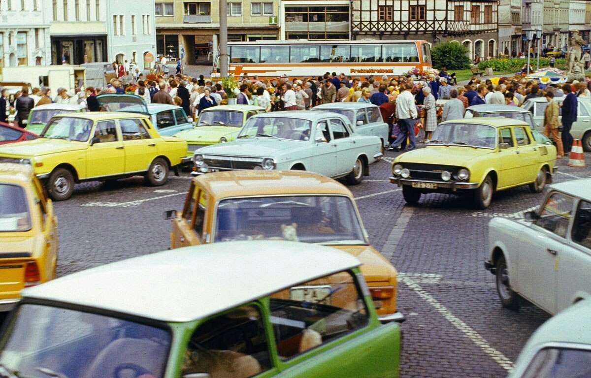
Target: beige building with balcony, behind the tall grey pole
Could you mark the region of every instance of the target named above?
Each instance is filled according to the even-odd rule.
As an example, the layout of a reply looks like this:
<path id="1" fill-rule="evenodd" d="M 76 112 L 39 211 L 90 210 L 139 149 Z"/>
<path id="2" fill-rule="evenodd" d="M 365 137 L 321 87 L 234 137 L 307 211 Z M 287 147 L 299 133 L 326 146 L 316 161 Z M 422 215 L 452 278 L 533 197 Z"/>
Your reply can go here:
<path id="1" fill-rule="evenodd" d="M 277 40 L 279 0 L 228 0 L 228 41 Z M 219 40 L 219 2 L 156 0 L 156 54 L 183 64 L 211 63 Z"/>

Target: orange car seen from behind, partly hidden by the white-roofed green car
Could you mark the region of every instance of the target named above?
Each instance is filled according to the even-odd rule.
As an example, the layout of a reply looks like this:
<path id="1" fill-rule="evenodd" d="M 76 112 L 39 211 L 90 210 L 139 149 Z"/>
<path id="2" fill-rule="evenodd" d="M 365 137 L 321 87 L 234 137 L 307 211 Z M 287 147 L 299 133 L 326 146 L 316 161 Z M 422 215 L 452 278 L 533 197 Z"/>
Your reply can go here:
<path id="1" fill-rule="evenodd" d="M 396 311 L 398 273 L 369 245 L 353 194 L 331 178 L 305 171 L 229 171 L 193 178 L 172 219 L 173 248 L 234 240 L 291 240 L 335 247 L 362 262 L 382 322 Z M 272 262 L 269 262 L 272 264 Z M 309 295 L 322 298 L 322 285 Z"/>

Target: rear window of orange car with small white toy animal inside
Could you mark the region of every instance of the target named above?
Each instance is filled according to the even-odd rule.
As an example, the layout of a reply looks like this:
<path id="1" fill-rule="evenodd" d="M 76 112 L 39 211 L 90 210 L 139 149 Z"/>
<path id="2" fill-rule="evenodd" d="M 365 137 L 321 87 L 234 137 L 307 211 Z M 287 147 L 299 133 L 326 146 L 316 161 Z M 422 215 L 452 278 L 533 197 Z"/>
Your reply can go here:
<path id="1" fill-rule="evenodd" d="M 250 239 L 366 244 L 355 207 L 348 197 L 294 195 L 220 201 L 215 241 Z"/>

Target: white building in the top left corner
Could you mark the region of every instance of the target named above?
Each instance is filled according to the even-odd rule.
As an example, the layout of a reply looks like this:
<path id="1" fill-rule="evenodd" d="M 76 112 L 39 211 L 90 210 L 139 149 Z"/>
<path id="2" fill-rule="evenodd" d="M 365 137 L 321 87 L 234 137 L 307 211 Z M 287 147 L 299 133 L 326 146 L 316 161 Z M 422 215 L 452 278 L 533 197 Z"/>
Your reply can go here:
<path id="1" fill-rule="evenodd" d="M 51 12 L 46 0 L 0 0 L 2 67 L 49 64 Z"/>

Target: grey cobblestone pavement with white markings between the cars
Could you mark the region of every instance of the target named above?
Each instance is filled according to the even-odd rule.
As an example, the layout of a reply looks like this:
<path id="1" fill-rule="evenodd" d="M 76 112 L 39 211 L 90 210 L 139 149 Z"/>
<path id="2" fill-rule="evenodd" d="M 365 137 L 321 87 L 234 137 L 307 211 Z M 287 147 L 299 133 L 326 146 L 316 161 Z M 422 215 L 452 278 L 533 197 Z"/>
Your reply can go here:
<path id="1" fill-rule="evenodd" d="M 499 303 L 488 258 L 487 224 L 492 216 L 518 219 L 543 194 L 516 188 L 495 194 L 485 211 L 466 198 L 423 196 L 418 206 L 404 203 L 400 188 L 388 182 L 394 152 L 371 166 L 371 176 L 350 187 L 357 198 L 369 239 L 400 272 L 398 307 L 404 346 L 401 377 L 504 377 L 531 333 L 549 315 L 535 307 L 509 311 Z M 591 162 L 591 154 L 585 154 Z M 560 161 L 555 182 L 591 177 L 589 168 Z M 58 275 L 170 246 L 165 210 L 180 210 L 190 176 L 147 187 L 141 177 L 106 185 L 76 186 L 70 200 L 55 203 L 59 217 Z M 100 284 L 100 283 L 98 283 Z"/>

